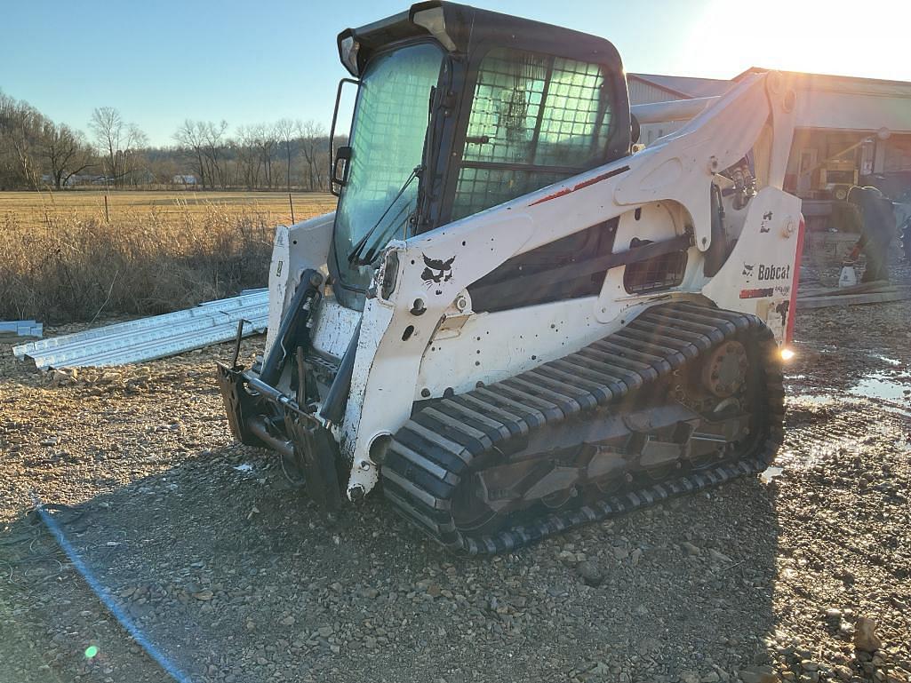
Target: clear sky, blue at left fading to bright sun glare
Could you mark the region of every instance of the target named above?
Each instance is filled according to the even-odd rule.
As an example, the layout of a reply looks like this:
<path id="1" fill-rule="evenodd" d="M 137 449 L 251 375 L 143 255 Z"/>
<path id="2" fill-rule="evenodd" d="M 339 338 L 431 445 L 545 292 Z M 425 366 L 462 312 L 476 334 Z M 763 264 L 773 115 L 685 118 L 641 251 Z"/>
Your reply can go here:
<path id="1" fill-rule="evenodd" d="M 728 78 L 749 66 L 911 80 L 911 2 L 473 0 L 609 38 L 628 71 Z M 336 34 L 402 11 L 394 0 L 6 0 L 0 89 L 85 129 L 117 107 L 153 144 L 185 118 L 328 124 Z"/>

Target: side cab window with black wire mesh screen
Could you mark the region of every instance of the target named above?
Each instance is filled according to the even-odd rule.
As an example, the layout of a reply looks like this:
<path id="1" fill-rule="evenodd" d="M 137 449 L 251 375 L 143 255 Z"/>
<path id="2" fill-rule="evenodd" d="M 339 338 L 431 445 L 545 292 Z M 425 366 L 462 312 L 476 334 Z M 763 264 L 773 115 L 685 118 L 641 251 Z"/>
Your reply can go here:
<path id="1" fill-rule="evenodd" d="M 478 71 L 453 219 L 601 163 L 610 93 L 602 67 L 508 48 Z"/>

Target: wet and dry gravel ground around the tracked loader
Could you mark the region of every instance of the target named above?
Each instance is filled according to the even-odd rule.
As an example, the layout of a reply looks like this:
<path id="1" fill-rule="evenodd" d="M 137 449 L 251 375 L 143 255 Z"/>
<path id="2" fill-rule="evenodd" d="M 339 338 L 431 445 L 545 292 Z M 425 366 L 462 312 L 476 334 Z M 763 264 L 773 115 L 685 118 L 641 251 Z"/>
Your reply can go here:
<path id="1" fill-rule="evenodd" d="M 911 304 L 796 334 L 781 474 L 493 559 L 377 496 L 320 515 L 232 443 L 227 346 L 73 377 L 2 345 L 0 681 L 909 681 Z"/>

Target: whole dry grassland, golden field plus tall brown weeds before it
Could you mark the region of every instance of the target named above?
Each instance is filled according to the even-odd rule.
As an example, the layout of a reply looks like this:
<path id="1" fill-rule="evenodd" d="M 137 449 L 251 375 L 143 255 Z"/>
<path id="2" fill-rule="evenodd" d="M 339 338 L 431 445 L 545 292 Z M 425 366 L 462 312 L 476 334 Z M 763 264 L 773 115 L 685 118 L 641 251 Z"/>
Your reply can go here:
<path id="1" fill-rule="evenodd" d="M 334 209 L 292 195 L 294 218 Z M 281 192 L 0 192 L 0 320 L 175 311 L 266 284 Z"/>

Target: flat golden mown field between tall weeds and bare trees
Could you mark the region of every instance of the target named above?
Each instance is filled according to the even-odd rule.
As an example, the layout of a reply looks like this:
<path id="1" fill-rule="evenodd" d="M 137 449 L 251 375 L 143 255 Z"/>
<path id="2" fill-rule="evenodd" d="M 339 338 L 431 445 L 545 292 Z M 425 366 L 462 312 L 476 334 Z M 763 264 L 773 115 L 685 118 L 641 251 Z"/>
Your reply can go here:
<path id="1" fill-rule="evenodd" d="M 335 208 L 329 193 L 292 192 L 294 218 L 301 220 Z M 197 192 L 129 191 L 108 193 L 107 213 L 111 221 L 153 214 L 163 221 L 183 222 L 187 217 L 217 211 L 222 215 L 256 216 L 264 223 L 291 220 L 287 192 Z M 103 190 L 66 192 L 0 192 L 0 226 L 34 228 L 49 219 L 104 219 Z"/>

